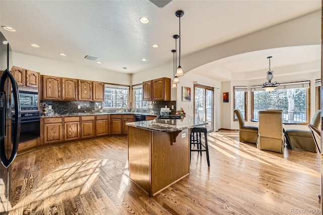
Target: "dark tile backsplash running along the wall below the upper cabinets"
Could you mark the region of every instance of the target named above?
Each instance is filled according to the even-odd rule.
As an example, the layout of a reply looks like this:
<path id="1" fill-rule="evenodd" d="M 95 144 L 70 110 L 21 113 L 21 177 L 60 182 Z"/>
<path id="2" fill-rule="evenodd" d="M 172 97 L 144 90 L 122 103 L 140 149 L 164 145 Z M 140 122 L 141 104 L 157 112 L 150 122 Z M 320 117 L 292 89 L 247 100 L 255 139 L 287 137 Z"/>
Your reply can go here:
<path id="1" fill-rule="evenodd" d="M 48 101 L 42 100 L 40 101 L 40 106 L 42 107 L 44 104 L 48 113 L 48 105 L 51 105 L 51 109 L 55 114 L 59 115 L 68 115 L 75 113 L 85 113 L 85 112 L 96 112 L 96 113 L 116 113 L 118 111 L 124 111 L 125 109 L 110 109 L 103 110 L 101 101 Z M 160 108 L 165 108 L 167 105 L 168 108 L 172 111 L 170 115 L 174 115 L 176 113 L 176 101 L 150 101 L 148 109 L 134 109 L 133 111 L 137 113 L 150 113 L 154 115 L 159 115 Z M 172 110 L 172 105 L 174 105 L 174 109 Z M 80 106 L 80 109 L 78 109 Z M 42 110 L 42 108 L 40 108 Z M 127 109 L 130 111 L 130 109 Z"/>

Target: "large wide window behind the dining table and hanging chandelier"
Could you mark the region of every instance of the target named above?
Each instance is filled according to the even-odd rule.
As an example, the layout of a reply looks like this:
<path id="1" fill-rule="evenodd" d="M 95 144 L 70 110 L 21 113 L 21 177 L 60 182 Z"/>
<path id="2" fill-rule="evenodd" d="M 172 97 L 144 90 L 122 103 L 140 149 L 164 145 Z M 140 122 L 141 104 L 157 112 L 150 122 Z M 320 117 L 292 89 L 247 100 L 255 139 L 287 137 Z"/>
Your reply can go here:
<path id="1" fill-rule="evenodd" d="M 308 122 L 309 81 L 282 83 L 272 92 L 251 86 L 251 118 L 258 119 L 258 111 L 283 110 L 283 120 Z"/>

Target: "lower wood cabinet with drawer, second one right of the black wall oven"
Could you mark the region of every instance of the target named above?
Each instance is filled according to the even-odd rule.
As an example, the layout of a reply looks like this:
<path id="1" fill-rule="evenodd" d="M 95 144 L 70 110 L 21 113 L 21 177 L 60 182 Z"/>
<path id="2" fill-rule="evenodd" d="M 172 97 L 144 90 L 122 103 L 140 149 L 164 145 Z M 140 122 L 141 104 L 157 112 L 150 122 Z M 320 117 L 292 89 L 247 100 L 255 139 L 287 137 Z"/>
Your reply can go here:
<path id="1" fill-rule="evenodd" d="M 64 140 L 80 139 L 80 117 L 64 118 Z"/>

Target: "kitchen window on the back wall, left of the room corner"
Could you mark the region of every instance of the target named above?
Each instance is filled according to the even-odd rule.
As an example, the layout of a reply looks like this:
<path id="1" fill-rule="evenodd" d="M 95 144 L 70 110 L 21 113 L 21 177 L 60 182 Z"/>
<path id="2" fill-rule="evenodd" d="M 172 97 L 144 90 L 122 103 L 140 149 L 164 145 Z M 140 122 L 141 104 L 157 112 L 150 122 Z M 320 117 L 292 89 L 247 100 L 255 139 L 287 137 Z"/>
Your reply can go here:
<path id="1" fill-rule="evenodd" d="M 104 86 L 103 108 L 128 108 L 129 86 Z"/>

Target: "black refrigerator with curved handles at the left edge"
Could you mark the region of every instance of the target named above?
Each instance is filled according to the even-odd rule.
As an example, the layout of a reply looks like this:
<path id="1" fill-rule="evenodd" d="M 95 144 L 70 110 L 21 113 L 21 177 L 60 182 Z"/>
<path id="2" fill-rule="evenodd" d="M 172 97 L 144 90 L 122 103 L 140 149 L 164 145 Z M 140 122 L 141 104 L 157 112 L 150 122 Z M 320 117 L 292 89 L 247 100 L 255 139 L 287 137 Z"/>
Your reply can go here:
<path id="1" fill-rule="evenodd" d="M 10 193 L 11 164 L 18 151 L 21 114 L 17 82 L 9 71 L 11 48 L 2 32 L 0 42 L 0 214 L 9 214 L 13 206 Z"/>

